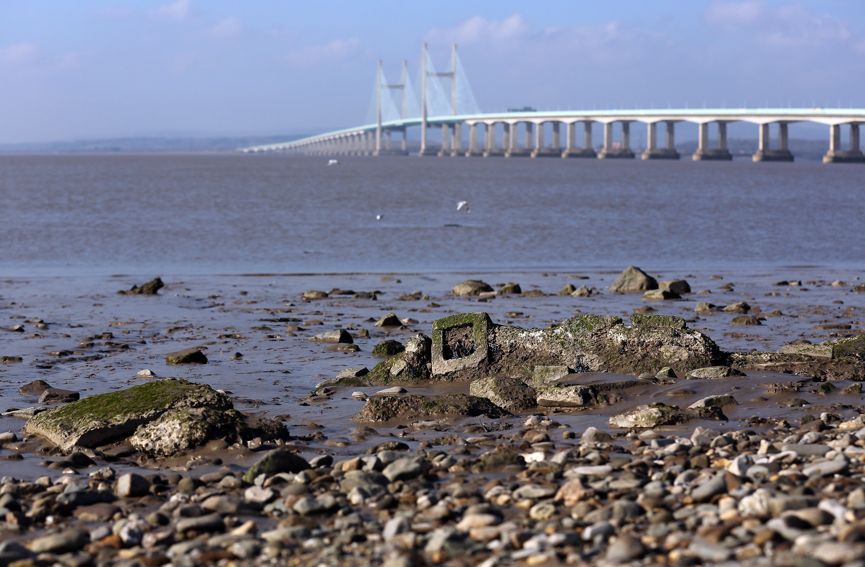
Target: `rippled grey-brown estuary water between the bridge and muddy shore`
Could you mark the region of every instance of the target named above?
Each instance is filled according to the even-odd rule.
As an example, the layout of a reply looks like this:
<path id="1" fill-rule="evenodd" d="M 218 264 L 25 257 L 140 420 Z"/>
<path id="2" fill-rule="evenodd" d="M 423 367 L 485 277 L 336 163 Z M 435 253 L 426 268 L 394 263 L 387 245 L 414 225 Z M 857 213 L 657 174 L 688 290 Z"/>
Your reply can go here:
<path id="1" fill-rule="evenodd" d="M 853 164 L 416 157 L 326 164 L 233 154 L 0 156 L 0 270 L 840 268 L 865 257 L 865 169 Z M 456 211 L 463 200 L 471 213 Z"/>

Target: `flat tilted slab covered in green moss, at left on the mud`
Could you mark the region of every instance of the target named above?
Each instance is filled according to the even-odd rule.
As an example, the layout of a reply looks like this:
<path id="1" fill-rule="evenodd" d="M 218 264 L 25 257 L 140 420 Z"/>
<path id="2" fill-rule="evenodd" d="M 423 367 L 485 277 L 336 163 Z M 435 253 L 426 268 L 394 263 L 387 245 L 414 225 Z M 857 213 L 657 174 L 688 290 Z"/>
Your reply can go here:
<path id="1" fill-rule="evenodd" d="M 154 380 L 119 392 L 87 396 L 32 417 L 23 431 L 45 437 L 64 451 L 78 445 L 113 443 L 170 410 L 208 407 L 231 410 L 231 400 L 205 384 L 183 379 Z"/>

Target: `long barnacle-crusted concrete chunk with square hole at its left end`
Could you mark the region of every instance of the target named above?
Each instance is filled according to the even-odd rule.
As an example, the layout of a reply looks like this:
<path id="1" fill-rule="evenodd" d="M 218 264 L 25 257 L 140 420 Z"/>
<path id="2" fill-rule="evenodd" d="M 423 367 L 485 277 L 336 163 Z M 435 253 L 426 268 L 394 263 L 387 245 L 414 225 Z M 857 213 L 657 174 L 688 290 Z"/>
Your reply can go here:
<path id="1" fill-rule="evenodd" d="M 724 360 L 708 336 L 689 329 L 681 317 L 665 315 L 631 315 L 630 327 L 618 316 L 578 315 L 555 328 L 526 329 L 495 324 L 486 313 L 466 313 L 432 325 L 434 379 L 530 376 L 535 366 L 637 375 Z"/>

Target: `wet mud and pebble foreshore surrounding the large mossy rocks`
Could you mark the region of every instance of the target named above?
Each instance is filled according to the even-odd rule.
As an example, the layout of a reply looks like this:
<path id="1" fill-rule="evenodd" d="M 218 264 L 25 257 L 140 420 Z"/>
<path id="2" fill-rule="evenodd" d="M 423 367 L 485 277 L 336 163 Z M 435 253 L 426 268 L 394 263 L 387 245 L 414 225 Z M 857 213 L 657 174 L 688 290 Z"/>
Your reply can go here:
<path id="1" fill-rule="evenodd" d="M 4 410 L 61 407 L 39 403 L 44 392 L 18 392 L 36 379 L 83 401 L 173 377 L 218 392 L 219 407 L 230 404 L 249 429 L 154 456 L 126 441 L 63 450 L 22 431 L 25 418 L 0 417 L 16 439 L 0 450 L 4 533 L 28 544 L 0 557 L 394 567 L 865 557 L 856 543 L 862 365 L 830 364 L 818 348 L 796 364 L 736 355 L 727 362 L 738 370 L 716 378 L 689 377 L 690 368 L 555 377 L 560 390 L 593 392 L 585 404 L 351 419 L 367 398 L 470 398 L 474 377 L 400 379 L 400 370 L 375 380 L 376 365 L 391 360 L 390 376 L 402 360 L 373 356 L 376 345 L 409 346 L 455 315 L 551 330 L 575 315 L 625 326 L 634 313 L 675 315 L 724 353 L 855 338 L 865 316 L 850 272 L 652 275 L 685 279 L 691 291 L 652 299 L 606 290 L 618 272 L 164 277 L 157 295 L 116 293 L 145 278 L 6 281 Z M 510 292 L 452 295 L 467 277 Z M 588 293 L 570 295 L 578 289 Z M 375 326 L 390 313 L 395 324 Z M 322 334 L 343 342 L 309 340 Z M 449 360 L 473 354 L 464 342 L 453 339 Z M 207 363 L 166 365 L 166 354 L 188 348 Z M 398 391 L 377 393 L 389 388 Z M 639 421 L 650 410 L 661 422 Z M 621 417 L 631 414 L 640 417 Z M 262 420 L 285 435 L 249 434 L 265 431 L 254 429 Z"/>

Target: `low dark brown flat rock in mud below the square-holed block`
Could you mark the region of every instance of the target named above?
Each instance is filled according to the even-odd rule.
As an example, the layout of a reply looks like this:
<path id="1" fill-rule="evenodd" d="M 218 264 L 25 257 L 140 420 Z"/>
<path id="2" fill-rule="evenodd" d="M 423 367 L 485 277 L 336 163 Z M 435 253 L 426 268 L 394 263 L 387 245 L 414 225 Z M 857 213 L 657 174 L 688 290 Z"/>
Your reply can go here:
<path id="1" fill-rule="evenodd" d="M 509 415 L 507 410 L 490 402 L 487 398 L 448 394 L 445 396 L 373 396 L 361 411 L 352 417 L 354 421 L 373 422 L 417 417 L 447 417 L 485 415 L 495 419 Z"/>

